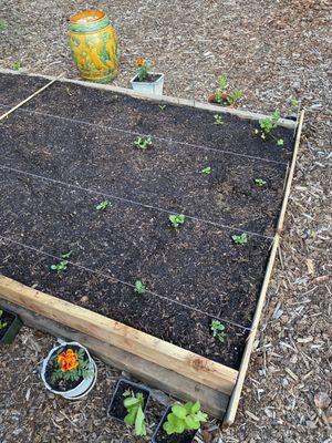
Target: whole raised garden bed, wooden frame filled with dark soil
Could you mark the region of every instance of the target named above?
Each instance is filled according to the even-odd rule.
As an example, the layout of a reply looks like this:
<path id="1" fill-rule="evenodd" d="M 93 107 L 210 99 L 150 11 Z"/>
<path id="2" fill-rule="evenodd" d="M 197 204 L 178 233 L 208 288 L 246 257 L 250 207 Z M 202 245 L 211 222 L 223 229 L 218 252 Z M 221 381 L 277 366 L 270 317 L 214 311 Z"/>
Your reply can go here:
<path id="1" fill-rule="evenodd" d="M 277 146 L 255 135 L 261 115 L 248 111 L 9 72 L 0 85 L 1 298 L 35 327 L 45 323 L 31 312 L 50 319 L 50 330 L 61 323 L 83 343 L 98 340 L 106 357 L 114 347 L 115 364 L 198 398 L 214 415 L 224 416 L 230 399 L 231 423 L 303 113 L 280 120 Z M 134 141 L 147 135 L 153 146 L 142 152 Z M 186 216 L 179 229 L 172 214 Z M 248 243 L 236 245 L 241 234 Z M 66 270 L 50 270 L 68 251 Z M 224 341 L 212 320 L 225 326 Z"/>

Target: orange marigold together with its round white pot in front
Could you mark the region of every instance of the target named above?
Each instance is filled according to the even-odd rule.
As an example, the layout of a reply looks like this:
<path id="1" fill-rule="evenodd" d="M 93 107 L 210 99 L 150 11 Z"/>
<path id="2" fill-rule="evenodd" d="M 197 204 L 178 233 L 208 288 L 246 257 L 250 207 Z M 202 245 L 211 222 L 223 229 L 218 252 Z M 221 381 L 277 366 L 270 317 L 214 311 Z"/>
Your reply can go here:
<path id="1" fill-rule="evenodd" d="M 41 369 L 45 388 L 69 400 L 85 396 L 94 387 L 97 369 L 87 349 L 75 341 L 53 348 Z"/>

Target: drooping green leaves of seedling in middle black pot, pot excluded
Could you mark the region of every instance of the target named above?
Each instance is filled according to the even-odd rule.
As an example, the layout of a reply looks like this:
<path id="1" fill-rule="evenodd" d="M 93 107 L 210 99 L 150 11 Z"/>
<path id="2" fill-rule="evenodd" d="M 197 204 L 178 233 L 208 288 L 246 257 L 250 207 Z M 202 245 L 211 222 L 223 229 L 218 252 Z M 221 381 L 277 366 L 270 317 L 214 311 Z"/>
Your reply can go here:
<path id="1" fill-rule="evenodd" d="M 124 418 L 124 422 L 129 426 L 135 425 L 135 434 L 137 436 L 146 435 L 146 421 L 145 414 L 143 412 L 144 409 L 144 396 L 142 392 L 137 392 L 136 394 L 126 390 L 123 393 L 125 398 L 123 401 L 123 405 L 127 410 L 127 414 Z"/>

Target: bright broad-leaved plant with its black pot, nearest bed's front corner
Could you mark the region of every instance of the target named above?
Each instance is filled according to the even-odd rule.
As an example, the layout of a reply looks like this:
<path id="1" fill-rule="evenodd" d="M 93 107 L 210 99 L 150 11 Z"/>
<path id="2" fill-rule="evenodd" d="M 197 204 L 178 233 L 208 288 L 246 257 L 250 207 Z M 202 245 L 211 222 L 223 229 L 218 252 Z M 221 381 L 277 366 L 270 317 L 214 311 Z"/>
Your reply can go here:
<path id="1" fill-rule="evenodd" d="M 200 403 L 175 403 L 169 406 L 158 424 L 153 443 L 191 443 L 200 424 L 207 421 L 207 414 L 200 411 Z"/>

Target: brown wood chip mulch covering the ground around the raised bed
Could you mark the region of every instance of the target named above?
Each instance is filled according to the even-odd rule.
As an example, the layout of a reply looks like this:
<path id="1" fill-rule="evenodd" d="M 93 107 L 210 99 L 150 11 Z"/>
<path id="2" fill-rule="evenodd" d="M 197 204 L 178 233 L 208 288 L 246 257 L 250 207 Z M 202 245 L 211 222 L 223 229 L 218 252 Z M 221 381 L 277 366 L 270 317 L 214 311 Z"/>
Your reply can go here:
<path id="1" fill-rule="evenodd" d="M 154 2 L 152 8 L 149 2 L 138 1 L 133 8 L 128 1 L 98 1 L 86 7 L 104 9 L 116 24 L 123 51 L 117 84 L 127 85 L 134 75 L 133 59 L 144 54 L 165 72 L 165 91 L 170 95 L 206 100 L 222 72 L 231 86 L 245 91 L 241 106 L 267 113 L 278 106 L 286 114 L 289 97 L 302 99 L 307 107 L 304 140 L 280 261 L 237 423 L 221 432 L 210 422 L 203 436 L 205 443 L 330 443 L 329 2 L 267 1 L 262 8 L 261 1 L 252 1 L 248 8 L 243 1 L 199 0 L 172 1 L 167 8 L 165 2 Z M 32 72 L 66 71 L 75 76 L 65 19 L 80 8 L 79 1 L 49 1 L 46 6 L 2 1 L 1 17 L 8 27 L 1 32 L 1 65 L 11 68 L 20 60 L 23 69 Z M 44 20 L 45 11 L 52 25 Z M 24 96 L 33 91 L 23 91 Z M 1 104 L 8 102 L 3 100 L 1 94 Z M 86 403 L 69 403 L 41 390 L 35 368 L 51 346 L 49 336 L 23 329 L 13 346 L 1 349 L 2 441 L 137 441 L 124 426 L 106 419 L 110 387 L 118 372 L 101 362 L 103 382 Z M 153 429 L 157 419 L 149 419 Z"/>

